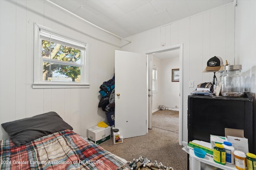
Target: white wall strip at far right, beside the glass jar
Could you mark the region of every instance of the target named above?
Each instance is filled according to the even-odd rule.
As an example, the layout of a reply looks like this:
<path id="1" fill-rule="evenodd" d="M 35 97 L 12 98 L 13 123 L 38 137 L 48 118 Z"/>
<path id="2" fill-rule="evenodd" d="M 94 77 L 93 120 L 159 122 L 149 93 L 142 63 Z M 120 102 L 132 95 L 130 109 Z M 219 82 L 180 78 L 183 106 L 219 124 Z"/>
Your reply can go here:
<path id="1" fill-rule="evenodd" d="M 254 115 L 256 115 L 256 1 L 238 0 L 236 6 L 236 64 L 242 64 L 245 78 L 245 91 L 254 99 Z M 255 134 L 255 129 L 254 129 Z"/>

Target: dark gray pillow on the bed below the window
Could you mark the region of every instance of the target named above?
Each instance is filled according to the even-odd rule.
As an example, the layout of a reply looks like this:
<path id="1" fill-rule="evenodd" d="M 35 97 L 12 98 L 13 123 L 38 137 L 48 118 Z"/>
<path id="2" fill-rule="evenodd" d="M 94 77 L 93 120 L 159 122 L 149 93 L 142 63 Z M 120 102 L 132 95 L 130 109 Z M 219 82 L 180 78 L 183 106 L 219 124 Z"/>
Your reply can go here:
<path id="1" fill-rule="evenodd" d="M 64 129 L 73 130 L 73 128 L 54 111 L 2 123 L 2 127 L 8 135 L 10 135 L 12 142 L 17 147 L 54 132 Z"/>

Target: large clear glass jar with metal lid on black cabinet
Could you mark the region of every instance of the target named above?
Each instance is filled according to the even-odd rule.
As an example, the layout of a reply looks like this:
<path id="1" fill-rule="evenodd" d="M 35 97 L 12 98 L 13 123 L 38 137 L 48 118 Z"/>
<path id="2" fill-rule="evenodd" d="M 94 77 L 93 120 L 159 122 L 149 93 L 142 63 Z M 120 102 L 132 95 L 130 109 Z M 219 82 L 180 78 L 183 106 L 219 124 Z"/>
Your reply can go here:
<path id="1" fill-rule="evenodd" d="M 244 95 L 244 78 L 242 65 L 224 66 L 222 75 L 222 96 L 242 97 Z"/>

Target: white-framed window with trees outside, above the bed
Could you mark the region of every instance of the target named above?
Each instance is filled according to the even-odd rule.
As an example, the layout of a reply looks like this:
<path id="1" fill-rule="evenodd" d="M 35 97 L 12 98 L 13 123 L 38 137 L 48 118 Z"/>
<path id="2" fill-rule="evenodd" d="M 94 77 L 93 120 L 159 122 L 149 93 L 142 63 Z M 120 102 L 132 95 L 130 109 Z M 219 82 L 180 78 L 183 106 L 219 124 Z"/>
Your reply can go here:
<path id="1" fill-rule="evenodd" d="M 34 23 L 33 88 L 89 88 L 87 45 Z"/>

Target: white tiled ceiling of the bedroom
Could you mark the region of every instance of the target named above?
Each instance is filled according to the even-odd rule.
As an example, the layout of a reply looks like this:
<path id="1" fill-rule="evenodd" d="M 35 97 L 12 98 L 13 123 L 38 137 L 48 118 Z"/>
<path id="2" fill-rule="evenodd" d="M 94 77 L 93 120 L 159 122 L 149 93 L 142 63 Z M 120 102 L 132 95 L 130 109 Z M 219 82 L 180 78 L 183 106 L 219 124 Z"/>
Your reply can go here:
<path id="1" fill-rule="evenodd" d="M 50 0 L 120 37 L 166 25 L 233 0 Z"/>

